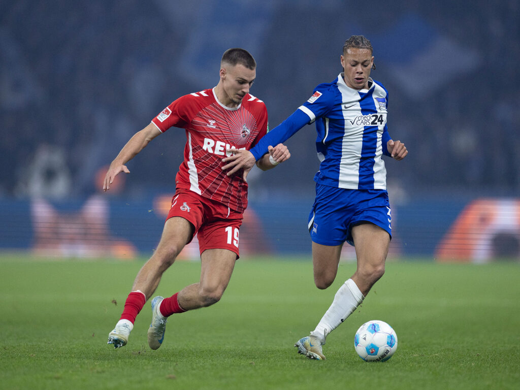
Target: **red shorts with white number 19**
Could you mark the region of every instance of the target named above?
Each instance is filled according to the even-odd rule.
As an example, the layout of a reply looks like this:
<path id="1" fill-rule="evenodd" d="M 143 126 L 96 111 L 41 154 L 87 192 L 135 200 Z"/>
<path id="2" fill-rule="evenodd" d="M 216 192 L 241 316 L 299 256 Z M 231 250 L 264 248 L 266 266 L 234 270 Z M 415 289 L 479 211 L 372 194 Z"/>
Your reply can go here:
<path id="1" fill-rule="evenodd" d="M 193 191 L 179 189 L 172 199 L 166 220 L 171 217 L 182 217 L 195 227 L 193 237 L 197 234 L 201 254 L 206 249 L 228 249 L 239 257 L 242 213 Z"/>

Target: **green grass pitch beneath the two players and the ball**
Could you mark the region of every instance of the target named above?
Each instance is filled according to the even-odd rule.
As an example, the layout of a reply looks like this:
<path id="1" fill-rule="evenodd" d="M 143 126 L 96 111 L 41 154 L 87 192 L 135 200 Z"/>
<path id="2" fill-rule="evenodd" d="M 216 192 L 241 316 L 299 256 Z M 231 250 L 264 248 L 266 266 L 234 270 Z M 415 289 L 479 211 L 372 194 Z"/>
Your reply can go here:
<path id="1" fill-rule="evenodd" d="M 222 300 L 174 315 L 148 348 L 149 303 L 129 344 L 107 335 L 142 261 L 0 257 L 0 389 L 505 389 L 520 383 L 520 266 L 389 262 L 362 306 L 327 339 L 326 361 L 296 354 L 335 291 L 354 271 L 341 264 L 328 290 L 310 259 L 241 259 Z M 157 294 L 198 280 L 178 262 Z M 117 305 L 112 303 L 115 300 Z M 357 328 L 381 319 L 396 354 L 363 362 Z"/>

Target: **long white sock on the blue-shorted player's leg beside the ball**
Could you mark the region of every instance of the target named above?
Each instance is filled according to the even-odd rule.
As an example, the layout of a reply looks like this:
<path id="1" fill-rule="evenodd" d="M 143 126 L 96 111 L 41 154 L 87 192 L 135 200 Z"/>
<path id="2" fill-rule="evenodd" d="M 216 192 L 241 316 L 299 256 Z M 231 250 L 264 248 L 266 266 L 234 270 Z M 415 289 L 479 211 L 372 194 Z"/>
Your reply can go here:
<path id="1" fill-rule="evenodd" d="M 323 315 L 316 329 L 310 332 L 310 335 L 317 337 L 321 344 L 325 344 L 327 335 L 345 321 L 349 315 L 354 313 L 354 310 L 363 302 L 363 299 L 365 297 L 359 291 L 354 280 L 348 279 L 337 290 L 332 305 Z"/>

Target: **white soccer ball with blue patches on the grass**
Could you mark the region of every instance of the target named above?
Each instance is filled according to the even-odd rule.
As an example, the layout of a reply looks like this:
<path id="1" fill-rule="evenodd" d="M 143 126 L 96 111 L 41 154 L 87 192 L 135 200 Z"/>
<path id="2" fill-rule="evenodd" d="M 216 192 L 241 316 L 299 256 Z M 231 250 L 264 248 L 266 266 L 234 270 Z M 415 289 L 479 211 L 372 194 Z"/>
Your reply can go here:
<path id="1" fill-rule="evenodd" d="M 368 321 L 356 332 L 354 348 L 365 361 L 386 361 L 397 349 L 397 334 L 384 321 Z"/>

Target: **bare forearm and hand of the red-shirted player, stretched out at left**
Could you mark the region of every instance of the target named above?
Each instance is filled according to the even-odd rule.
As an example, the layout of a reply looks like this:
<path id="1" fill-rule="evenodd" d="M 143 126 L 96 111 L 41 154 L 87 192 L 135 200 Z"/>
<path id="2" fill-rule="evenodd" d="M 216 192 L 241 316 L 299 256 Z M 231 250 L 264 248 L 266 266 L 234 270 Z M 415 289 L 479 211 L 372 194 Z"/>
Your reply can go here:
<path id="1" fill-rule="evenodd" d="M 144 149 L 148 142 L 153 138 L 161 134 L 161 131 L 153 123 L 150 123 L 141 131 L 135 133 L 132 138 L 126 142 L 126 145 L 121 149 L 118 156 L 112 161 L 108 168 L 107 174 L 105 175 L 105 181 L 103 181 L 103 191 L 110 189 L 110 185 L 113 183 L 115 176 L 119 173 L 130 173 L 126 167 L 126 163 L 132 160 L 137 153 Z"/>

